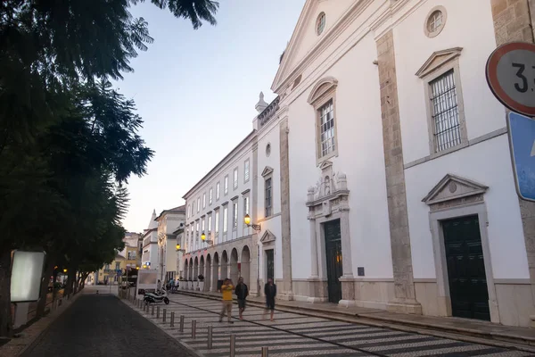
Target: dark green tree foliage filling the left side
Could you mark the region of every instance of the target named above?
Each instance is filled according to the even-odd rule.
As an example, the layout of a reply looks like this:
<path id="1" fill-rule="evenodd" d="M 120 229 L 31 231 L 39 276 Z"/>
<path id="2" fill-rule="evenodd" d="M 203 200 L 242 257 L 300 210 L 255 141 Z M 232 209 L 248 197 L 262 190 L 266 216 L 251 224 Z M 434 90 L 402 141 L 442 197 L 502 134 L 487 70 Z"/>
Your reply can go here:
<path id="1" fill-rule="evenodd" d="M 129 12 L 139 2 L 0 2 L 0 336 L 12 331 L 12 249 L 45 250 L 44 277 L 61 266 L 72 281 L 124 246 L 124 184 L 153 153 L 134 102 L 109 79 L 153 41 Z M 151 2 L 194 29 L 216 23 L 214 1 Z"/>

